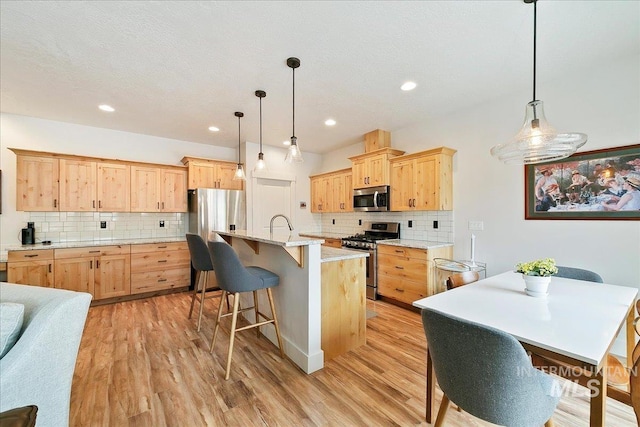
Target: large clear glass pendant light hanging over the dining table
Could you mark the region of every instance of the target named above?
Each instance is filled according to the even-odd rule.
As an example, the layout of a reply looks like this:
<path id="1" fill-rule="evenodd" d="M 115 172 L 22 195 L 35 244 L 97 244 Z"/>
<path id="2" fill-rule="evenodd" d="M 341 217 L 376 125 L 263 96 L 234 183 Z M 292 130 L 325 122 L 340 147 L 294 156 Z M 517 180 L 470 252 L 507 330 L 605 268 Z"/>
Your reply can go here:
<path id="1" fill-rule="evenodd" d="M 533 3 L 533 100 L 527 104 L 524 124 L 514 140 L 496 145 L 491 154 L 506 164 L 534 164 L 569 157 L 587 142 L 584 133 L 557 133 L 544 115 L 542 101 L 536 99 L 536 15 Z"/>

